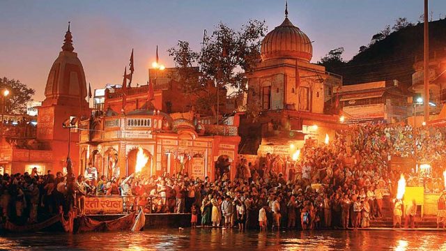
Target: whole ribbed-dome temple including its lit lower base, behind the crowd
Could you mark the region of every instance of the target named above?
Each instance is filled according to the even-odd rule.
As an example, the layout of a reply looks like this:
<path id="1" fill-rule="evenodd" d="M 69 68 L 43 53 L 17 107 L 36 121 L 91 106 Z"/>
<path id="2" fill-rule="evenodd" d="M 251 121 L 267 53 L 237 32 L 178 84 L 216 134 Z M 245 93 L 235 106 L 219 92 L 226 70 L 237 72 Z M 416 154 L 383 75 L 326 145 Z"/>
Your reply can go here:
<path id="1" fill-rule="evenodd" d="M 284 22 L 263 39 L 261 60 L 247 75 L 247 103 L 259 116 L 240 122 L 241 153 L 289 155 L 291 144 L 300 148 L 305 140 L 318 144 L 334 136 L 339 116 L 325 103 L 333 102 L 342 79 L 310 63 L 312 56 L 312 41 L 289 20 L 286 8 Z"/>

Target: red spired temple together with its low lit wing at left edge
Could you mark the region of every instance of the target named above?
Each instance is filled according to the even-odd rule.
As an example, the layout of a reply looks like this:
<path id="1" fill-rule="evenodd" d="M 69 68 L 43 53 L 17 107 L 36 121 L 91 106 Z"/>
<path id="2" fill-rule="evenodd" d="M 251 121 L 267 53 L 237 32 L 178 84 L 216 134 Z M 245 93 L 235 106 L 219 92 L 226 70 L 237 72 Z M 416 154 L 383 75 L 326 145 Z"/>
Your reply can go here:
<path id="1" fill-rule="evenodd" d="M 37 128 L 26 133 L 6 134 L 0 151 L 0 162 L 8 173 L 48 170 L 63 171 L 68 149 L 75 173 L 79 172 L 79 132 L 66 129 L 62 123 L 75 116 L 88 118 L 91 114 L 86 102 L 86 80 L 82 63 L 74 52 L 70 25 L 63 40 L 62 51 L 54 61 L 45 86 L 45 100 L 38 107 Z M 33 132 L 36 130 L 36 132 Z M 70 131 L 71 130 L 71 131 Z M 70 135 L 69 135 L 70 134 Z M 70 140 L 69 140 L 70 139 Z"/>

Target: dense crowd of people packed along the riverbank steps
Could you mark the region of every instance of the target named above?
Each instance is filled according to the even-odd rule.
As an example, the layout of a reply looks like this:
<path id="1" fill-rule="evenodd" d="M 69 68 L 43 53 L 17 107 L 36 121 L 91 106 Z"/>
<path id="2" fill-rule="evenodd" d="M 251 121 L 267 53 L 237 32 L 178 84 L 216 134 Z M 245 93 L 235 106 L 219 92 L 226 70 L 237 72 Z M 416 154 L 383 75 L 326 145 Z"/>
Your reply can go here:
<path id="1" fill-rule="evenodd" d="M 90 172 L 95 170 L 91 165 L 72 181 L 61 173 L 39 176 L 36 169 L 31 174 L 5 174 L 0 176 L 1 216 L 36 222 L 39 214 L 73 207 L 84 213 L 86 196 L 116 195 L 123 197 L 126 212 L 142 208 L 146 213 L 191 213 L 192 226 L 367 228 L 370 220 L 383 216 L 383 197 L 393 197 L 397 190 L 401 172 L 390 171 L 390 155 L 416 154 L 440 167 L 444 134 L 428 128 L 417 131 L 420 144 L 414 151 L 410 126 L 351 126 L 337 132 L 329 144 L 307 141 L 298 160 L 269 153 L 259 162 L 241 158 L 232 181 L 229 175 L 210 181 L 187 173 L 107 178 Z M 416 172 L 404 175 L 415 177 Z M 443 190 L 440 174 L 432 175 L 437 175 L 436 189 Z M 406 215 L 416 213 L 416 207 L 404 210 Z M 401 227 L 401 219 L 395 220 Z"/>

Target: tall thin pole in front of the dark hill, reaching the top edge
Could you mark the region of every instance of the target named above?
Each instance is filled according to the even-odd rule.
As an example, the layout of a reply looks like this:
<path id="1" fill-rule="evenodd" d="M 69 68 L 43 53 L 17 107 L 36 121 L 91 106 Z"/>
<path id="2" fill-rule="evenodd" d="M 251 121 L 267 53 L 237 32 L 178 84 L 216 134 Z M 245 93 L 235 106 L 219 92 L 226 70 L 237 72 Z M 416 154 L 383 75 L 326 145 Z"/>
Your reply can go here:
<path id="1" fill-rule="evenodd" d="M 424 0 L 424 122 L 429 121 L 429 20 L 428 0 Z"/>

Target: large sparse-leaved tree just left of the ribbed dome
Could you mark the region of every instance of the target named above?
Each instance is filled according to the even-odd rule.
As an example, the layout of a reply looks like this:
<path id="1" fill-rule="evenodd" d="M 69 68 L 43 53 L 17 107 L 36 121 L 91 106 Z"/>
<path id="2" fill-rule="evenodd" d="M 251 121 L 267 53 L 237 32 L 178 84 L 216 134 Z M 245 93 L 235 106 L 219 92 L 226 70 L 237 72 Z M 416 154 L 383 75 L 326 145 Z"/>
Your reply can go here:
<path id="1" fill-rule="evenodd" d="M 210 108 L 215 115 L 217 89 L 222 90 L 221 93 L 224 89 L 238 93 L 247 91 L 245 73 L 254 70 L 259 61 L 265 33 L 265 21 L 250 20 L 239 31 L 220 22 L 212 35 L 204 38 L 199 52 L 194 52 L 187 41 L 178 41 L 176 47 L 168 50 L 178 68 L 179 78 L 185 83 L 183 92 L 195 97 L 192 100 L 195 107 Z"/>

